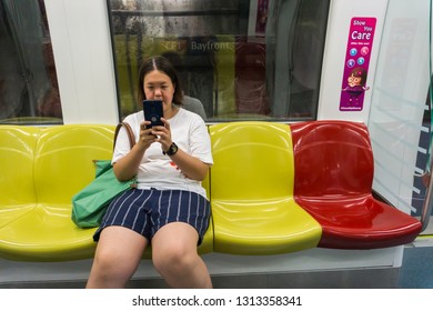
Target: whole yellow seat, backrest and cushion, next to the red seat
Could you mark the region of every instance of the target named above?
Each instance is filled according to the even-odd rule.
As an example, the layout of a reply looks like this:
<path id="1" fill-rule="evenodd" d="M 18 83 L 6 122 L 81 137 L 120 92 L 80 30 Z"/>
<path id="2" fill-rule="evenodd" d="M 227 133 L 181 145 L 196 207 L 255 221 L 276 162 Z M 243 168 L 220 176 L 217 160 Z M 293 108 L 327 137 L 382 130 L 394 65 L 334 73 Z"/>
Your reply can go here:
<path id="1" fill-rule="evenodd" d="M 214 251 L 278 254 L 315 248 L 320 224 L 293 199 L 288 124 L 243 121 L 210 126 L 214 164 Z"/>

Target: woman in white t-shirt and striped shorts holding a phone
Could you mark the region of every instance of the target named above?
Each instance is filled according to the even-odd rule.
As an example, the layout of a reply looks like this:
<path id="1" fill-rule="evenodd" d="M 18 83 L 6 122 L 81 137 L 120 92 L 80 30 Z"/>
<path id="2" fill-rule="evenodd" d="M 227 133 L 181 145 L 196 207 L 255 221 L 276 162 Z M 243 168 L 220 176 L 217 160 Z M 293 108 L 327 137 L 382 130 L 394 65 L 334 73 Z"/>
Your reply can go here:
<path id="1" fill-rule="evenodd" d="M 121 130 L 113 153 L 119 180 L 137 177 L 137 188 L 111 202 L 100 228 L 87 288 L 123 288 L 152 244 L 157 271 L 172 288 L 212 288 L 197 247 L 210 221 L 201 181 L 213 164 L 210 137 L 199 114 L 183 109 L 172 64 L 162 57 L 143 62 L 139 100 L 163 101 L 164 126 L 147 129 L 143 111 L 128 116 L 135 136 L 130 149 Z M 175 104 L 174 104 L 175 103 Z"/>

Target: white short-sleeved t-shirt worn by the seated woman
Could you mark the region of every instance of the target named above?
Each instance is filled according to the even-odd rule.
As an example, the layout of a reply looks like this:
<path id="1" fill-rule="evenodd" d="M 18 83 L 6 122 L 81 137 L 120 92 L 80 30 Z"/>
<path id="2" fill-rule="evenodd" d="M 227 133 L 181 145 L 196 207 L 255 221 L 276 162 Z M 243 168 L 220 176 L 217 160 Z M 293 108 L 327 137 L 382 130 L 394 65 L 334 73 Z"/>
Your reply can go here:
<path id="1" fill-rule="evenodd" d="M 124 118 L 135 136 L 140 137 L 140 123 L 144 121 L 142 111 Z M 199 158 L 207 164 L 213 164 L 211 141 L 203 119 L 191 111 L 179 109 L 178 113 L 168 120 L 171 129 L 171 139 L 179 149 Z M 114 148 L 112 163 L 130 151 L 130 143 L 124 128 L 119 132 Z M 171 161 L 169 156 L 162 153 L 159 142 L 152 143 L 144 152 L 144 157 L 137 174 L 138 189 L 155 188 L 159 190 L 188 190 L 207 197 L 200 181 L 189 179 Z"/>

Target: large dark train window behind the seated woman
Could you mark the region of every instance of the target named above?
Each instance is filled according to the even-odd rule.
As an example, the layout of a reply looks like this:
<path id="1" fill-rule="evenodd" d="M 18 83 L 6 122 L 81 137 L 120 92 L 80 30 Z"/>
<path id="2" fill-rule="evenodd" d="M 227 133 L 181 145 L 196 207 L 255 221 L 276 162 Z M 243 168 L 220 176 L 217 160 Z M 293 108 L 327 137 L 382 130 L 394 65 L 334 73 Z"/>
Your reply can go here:
<path id="1" fill-rule="evenodd" d="M 108 0 L 120 118 L 137 72 L 169 58 L 209 122 L 315 119 L 330 1 Z"/>

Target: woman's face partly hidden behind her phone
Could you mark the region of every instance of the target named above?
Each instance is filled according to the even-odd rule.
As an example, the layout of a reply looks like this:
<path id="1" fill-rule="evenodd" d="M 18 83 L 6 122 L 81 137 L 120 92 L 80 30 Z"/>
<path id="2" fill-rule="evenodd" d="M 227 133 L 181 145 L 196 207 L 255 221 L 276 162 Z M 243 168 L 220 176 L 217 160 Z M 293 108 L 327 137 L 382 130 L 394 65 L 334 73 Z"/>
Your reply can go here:
<path id="1" fill-rule="evenodd" d="M 165 73 L 153 70 L 144 77 L 143 89 L 145 99 L 162 100 L 164 111 L 171 109 L 174 86 Z"/>

